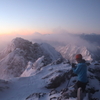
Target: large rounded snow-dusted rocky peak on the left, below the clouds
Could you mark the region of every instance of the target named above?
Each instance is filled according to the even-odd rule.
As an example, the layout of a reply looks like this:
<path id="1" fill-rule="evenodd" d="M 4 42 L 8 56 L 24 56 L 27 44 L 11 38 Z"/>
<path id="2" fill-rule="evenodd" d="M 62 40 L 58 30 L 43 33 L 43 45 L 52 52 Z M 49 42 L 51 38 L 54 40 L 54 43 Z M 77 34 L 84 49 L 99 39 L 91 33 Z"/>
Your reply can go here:
<path id="1" fill-rule="evenodd" d="M 35 62 L 39 57 L 44 56 L 44 65 L 62 58 L 49 44 L 38 44 L 15 38 L 0 53 L 0 79 L 19 77 L 29 61 Z"/>

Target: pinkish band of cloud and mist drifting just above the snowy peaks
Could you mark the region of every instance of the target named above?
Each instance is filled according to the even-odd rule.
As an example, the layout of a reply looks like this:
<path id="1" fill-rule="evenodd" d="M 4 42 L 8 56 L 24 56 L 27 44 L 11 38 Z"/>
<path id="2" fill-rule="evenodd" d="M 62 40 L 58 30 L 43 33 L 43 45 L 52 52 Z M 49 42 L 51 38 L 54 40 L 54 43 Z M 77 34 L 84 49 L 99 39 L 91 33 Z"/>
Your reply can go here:
<path id="1" fill-rule="evenodd" d="M 41 34 L 38 32 L 35 32 L 30 35 L 19 35 L 19 34 L 13 34 L 13 35 L 0 35 L 0 50 L 4 49 L 11 41 L 12 39 L 16 37 L 21 37 L 24 39 L 27 39 L 29 41 L 37 42 L 37 43 L 49 43 L 53 46 L 65 46 L 67 44 L 73 44 L 78 46 L 86 46 L 91 49 L 95 49 L 92 44 L 87 42 L 86 40 L 82 39 L 77 34 L 68 33 L 64 30 L 55 31 L 53 34 Z"/>

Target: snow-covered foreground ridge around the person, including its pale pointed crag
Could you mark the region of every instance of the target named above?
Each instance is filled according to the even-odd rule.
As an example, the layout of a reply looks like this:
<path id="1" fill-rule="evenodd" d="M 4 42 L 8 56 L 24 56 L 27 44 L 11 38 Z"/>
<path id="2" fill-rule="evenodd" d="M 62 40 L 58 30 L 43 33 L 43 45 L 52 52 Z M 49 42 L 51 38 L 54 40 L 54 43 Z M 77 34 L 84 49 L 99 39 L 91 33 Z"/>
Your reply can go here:
<path id="1" fill-rule="evenodd" d="M 62 62 L 61 64 L 49 64 L 45 67 L 41 67 L 43 63 L 42 60 L 43 57 L 39 58 L 34 64 L 29 62 L 31 67 L 28 65 L 21 77 L 7 80 L 6 85 L 8 88 L 3 88 L 2 91 L 0 91 L 0 100 L 57 100 L 58 97 L 62 97 L 61 91 L 68 83 L 68 77 L 70 75 L 68 72 L 71 71 L 71 66 L 68 63 Z M 40 70 L 34 70 L 34 68 L 36 68 L 35 65 L 39 65 L 38 68 L 40 68 Z M 46 86 L 48 82 L 56 80 L 55 77 L 58 77 L 59 74 L 62 75 L 62 72 L 67 72 L 66 80 L 61 82 L 57 88 L 47 89 Z M 99 99 L 100 63 L 94 62 L 88 66 L 88 78 L 89 83 L 87 84 L 86 90 L 90 90 L 91 100 L 94 98 Z M 68 86 L 75 84 L 76 80 L 76 76 L 71 77 Z M 0 87 L 4 87 L 3 84 L 1 84 Z M 69 99 L 64 99 L 64 97 L 62 97 L 61 100 L 76 100 L 76 98 L 69 97 Z M 86 93 L 84 100 L 89 100 L 88 93 Z"/>

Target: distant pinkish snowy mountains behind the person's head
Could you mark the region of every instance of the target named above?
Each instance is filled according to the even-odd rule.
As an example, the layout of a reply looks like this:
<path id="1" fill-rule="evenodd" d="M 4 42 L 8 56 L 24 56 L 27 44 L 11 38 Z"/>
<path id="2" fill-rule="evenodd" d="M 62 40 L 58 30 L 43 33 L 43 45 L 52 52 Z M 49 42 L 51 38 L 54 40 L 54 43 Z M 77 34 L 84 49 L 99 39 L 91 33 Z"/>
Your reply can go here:
<path id="1" fill-rule="evenodd" d="M 55 46 L 55 48 L 64 58 L 69 59 L 71 62 L 74 61 L 75 55 L 79 53 L 88 61 L 100 60 L 100 49 L 96 46 L 89 48 L 82 45 L 67 44 L 66 46 Z"/>

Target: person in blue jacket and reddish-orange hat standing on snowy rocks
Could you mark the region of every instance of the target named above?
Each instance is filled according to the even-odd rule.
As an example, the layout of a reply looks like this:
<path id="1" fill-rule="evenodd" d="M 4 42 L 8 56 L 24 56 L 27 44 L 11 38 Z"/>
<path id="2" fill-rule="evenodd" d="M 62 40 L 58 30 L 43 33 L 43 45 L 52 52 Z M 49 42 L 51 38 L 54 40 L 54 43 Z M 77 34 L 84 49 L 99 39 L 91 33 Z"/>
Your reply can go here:
<path id="1" fill-rule="evenodd" d="M 83 92 L 85 90 L 86 84 L 87 84 L 87 65 L 85 63 L 85 60 L 82 59 L 82 55 L 78 54 L 76 55 L 76 61 L 78 62 L 76 67 L 73 67 L 73 72 L 78 75 L 78 82 L 77 87 L 81 87 Z"/>

